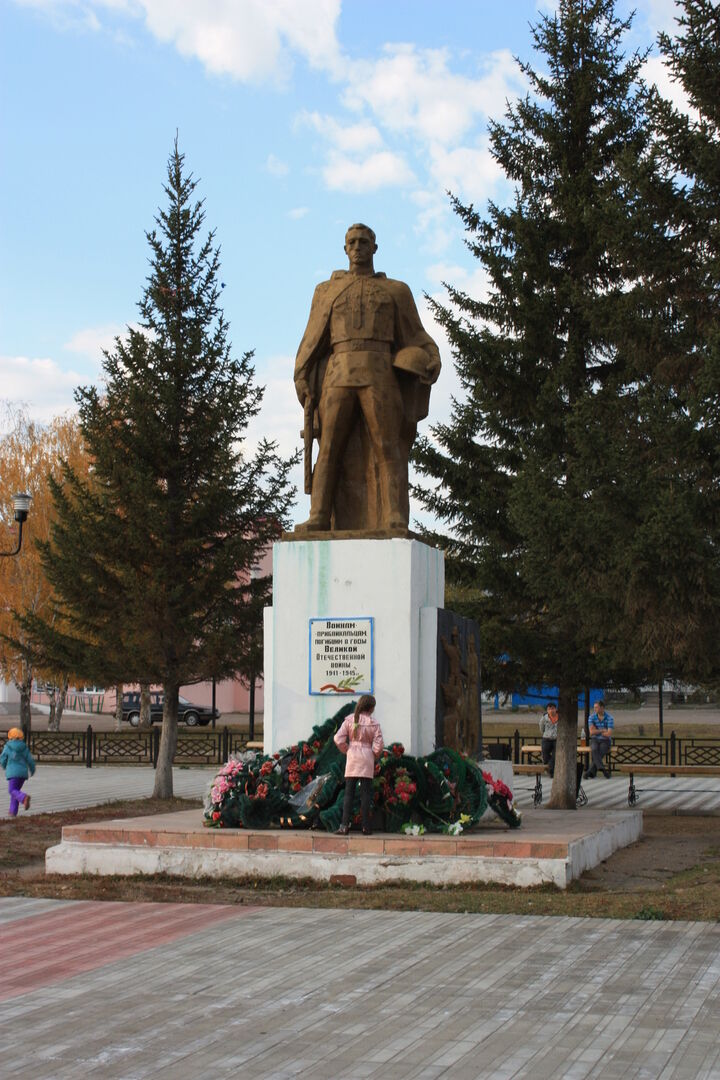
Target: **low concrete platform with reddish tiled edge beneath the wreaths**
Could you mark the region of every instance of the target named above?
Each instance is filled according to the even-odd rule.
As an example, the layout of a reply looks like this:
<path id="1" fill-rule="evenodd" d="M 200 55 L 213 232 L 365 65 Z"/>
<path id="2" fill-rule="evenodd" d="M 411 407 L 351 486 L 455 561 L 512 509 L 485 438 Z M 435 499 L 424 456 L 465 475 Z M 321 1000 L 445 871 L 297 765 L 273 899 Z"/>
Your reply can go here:
<path id="1" fill-rule="evenodd" d="M 642 813 L 532 810 L 522 826 L 484 822 L 461 836 L 205 828 L 201 810 L 69 825 L 45 854 L 47 874 L 171 874 L 185 878 L 314 878 L 341 885 L 543 883 L 565 889 L 639 839 Z"/>

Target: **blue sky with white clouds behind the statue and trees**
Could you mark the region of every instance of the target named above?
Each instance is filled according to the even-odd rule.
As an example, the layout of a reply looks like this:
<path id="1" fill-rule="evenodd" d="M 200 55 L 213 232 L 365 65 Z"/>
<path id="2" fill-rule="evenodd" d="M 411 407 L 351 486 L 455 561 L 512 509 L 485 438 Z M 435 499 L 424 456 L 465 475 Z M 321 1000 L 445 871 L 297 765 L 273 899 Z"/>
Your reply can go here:
<path id="1" fill-rule="evenodd" d="M 635 6 L 628 46 L 671 28 L 674 0 Z M 487 123 L 522 93 L 513 57 L 530 58 L 529 25 L 552 9 L 0 0 L 0 400 L 49 419 L 99 379 L 101 347 L 136 319 L 177 130 L 221 245 L 234 350 L 255 350 L 268 387 L 252 436 L 296 447 L 293 357 L 314 285 L 345 265 L 349 224 L 375 228 L 376 268 L 421 309 L 443 280 L 483 288 L 446 190 L 478 206 L 507 197 Z M 662 84 L 656 60 L 650 73 Z M 436 336 L 430 422 L 457 388 Z"/>

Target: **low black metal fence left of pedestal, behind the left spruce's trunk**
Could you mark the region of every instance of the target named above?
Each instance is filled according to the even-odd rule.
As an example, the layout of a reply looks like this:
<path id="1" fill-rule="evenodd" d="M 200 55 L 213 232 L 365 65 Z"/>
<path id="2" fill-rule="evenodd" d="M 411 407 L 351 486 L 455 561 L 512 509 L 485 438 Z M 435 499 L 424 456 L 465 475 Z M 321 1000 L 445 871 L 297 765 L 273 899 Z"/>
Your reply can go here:
<path id="1" fill-rule="evenodd" d="M 29 748 L 36 761 L 58 765 L 158 765 L 160 728 L 148 731 L 31 731 Z M 5 734 L 0 732 L 0 748 Z M 230 754 L 245 750 L 245 735 L 229 728 L 179 731 L 175 765 L 223 765 Z"/>

